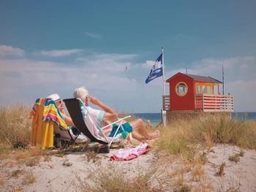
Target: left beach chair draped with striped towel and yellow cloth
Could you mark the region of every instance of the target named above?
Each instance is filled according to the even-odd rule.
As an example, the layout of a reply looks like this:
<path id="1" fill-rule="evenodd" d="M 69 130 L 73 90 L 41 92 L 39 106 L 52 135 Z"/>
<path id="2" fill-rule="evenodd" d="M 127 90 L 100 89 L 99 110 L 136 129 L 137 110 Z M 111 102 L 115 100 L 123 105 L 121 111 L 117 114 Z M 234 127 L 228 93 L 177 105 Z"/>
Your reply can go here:
<path id="1" fill-rule="evenodd" d="M 47 147 L 53 147 L 56 139 L 59 140 L 56 142 L 58 147 L 61 147 L 61 141 L 72 143 L 77 140 L 77 136 L 64 122 L 53 100 L 37 99 L 30 116 L 33 117 L 31 124 L 32 145 L 40 146 L 44 150 Z"/>

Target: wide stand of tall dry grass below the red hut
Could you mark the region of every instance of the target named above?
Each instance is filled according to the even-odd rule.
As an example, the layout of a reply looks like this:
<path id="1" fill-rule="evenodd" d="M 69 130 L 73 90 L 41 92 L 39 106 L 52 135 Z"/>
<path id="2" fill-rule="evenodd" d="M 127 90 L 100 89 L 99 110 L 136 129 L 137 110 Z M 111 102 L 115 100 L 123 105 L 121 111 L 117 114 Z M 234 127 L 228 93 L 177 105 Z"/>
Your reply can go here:
<path id="1" fill-rule="evenodd" d="M 161 136 L 155 146 L 170 154 L 187 154 L 195 150 L 198 144 L 211 147 L 222 143 L 256 149 L 255 138 L 255 120 L 208 115 L 189 120 L 173 120 L 170 126 L 161 128 Z"/>

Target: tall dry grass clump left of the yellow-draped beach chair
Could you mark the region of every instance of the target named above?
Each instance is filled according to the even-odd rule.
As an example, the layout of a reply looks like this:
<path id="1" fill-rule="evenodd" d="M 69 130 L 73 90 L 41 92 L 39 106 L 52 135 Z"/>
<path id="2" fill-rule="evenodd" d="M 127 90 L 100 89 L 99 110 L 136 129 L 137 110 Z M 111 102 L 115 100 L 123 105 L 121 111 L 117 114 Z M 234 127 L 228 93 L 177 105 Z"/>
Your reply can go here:
<path id="1" fill-rule="evenodd" d="M 20 160 L 40 155 L 38 149 L 29 147 L 30 134 L 29 107 L 24 104 L 0 107 L 0 158 Z"/>

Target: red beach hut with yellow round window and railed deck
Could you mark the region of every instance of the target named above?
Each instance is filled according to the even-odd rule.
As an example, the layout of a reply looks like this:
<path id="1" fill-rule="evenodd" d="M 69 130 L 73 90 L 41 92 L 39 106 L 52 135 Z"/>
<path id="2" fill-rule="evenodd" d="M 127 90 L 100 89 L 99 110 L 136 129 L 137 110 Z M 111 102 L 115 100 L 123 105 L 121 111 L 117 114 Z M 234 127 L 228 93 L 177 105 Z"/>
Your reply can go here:
<path id="1" fill-rule="evenodd" d="M 219 93 L 221 81 L 213 77 L 178 72 L 170 77 L 170 95 L 163 96 L 167 112 L 233 112 L 233 96 Z"/>

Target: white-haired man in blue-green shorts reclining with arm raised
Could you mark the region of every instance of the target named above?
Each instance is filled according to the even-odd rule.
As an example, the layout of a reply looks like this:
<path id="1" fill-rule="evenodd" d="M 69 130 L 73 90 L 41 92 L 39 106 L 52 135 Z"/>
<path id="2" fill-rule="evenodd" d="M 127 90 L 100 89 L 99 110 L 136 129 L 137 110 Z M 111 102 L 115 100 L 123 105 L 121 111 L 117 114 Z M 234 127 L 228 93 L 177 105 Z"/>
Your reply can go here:
<path id="1" fill-rule="evenodd" d="M 107 126 L 108 124 L 110 124 L 112 120 L 116 120 L 118 118 L 118 113 L 115 110 L 104 104 L 102 101 L 99 101 L 99 99 L 97 99 L 96 97 L 90 96 L 89 91 L 84 86 L 75 89 L 74 97 L 81 99 L 86 105 L 86 107 L 81 105 L 83 119 L 85 120 L 86 126 L 91 131 L 94 131 L 94 134 L 99 134 L 99 131 L 97 130 L 97 128 L 95 128 L 96 125 L 94 122 L 92 122 L 91 118 L 89 118 L 87 111 L 91 113 L 92 118 L 96 120 L 97 125 L 99 127 Z M 97 105 L 102 110 L 95 110 L 89 107 L 89 102 L 91 102 L 91 104 Z M 117 127 L 117 125 L 113 124 L 113 126 L 108 126 L 108 128 L 105 128 L 102 131 L 106 136 L 113 137 Z M 125 131 L 132 132 L 132 137 L 139 141 L 144 141 L 146 139 L 155 139 L 159 137 L 159 131 L 149 133 L 148 130 L 146 129 L 146 126 L 144 125 L 143 120 L 140 118 L 132 120 L 129 123 L 124 122 L 124 124 L 122 124 L 122 127 Z M 132 131 L 133 129 L 138 130 L 138 132 Z M 121 133 L 121 131 L 122 130 L 119 129 L 117 134 Z"/>

